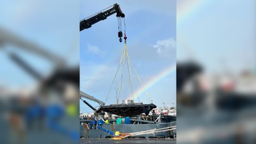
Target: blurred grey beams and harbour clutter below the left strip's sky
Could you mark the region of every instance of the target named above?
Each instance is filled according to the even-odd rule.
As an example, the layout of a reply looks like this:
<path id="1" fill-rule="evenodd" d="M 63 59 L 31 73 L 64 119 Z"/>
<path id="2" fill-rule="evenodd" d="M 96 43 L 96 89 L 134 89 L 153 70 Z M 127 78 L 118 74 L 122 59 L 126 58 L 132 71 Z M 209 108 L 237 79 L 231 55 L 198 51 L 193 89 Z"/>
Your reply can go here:
<path id="1" fill-rule="evenodd" d="M 54 65 L 51 73 L 43 76 L 19 57 L 17 51 L 5 51 L 18 68 L 36 81 L 34 87 L 13 89 L 1 85 L 0 143 L 78 141 L 79 68 L 67 67 L 65 62 L 55 59 L 57 56 L 5 29 L 0 29 L 0 41 L 4 46 L 15 45 L 46 57 Z"/>

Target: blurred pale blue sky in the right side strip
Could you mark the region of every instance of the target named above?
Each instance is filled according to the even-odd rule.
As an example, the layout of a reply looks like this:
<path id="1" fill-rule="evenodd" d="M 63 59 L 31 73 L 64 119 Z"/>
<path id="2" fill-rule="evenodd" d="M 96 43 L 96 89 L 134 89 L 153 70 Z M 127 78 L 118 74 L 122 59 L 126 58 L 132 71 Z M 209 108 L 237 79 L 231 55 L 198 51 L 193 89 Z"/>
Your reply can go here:
<path id="1" fill-rule="evenodd" d="M 198 61 L 209 74 L 256 73 L 255 10 L 254 0 L 177 1 L 177 61 Z"/>

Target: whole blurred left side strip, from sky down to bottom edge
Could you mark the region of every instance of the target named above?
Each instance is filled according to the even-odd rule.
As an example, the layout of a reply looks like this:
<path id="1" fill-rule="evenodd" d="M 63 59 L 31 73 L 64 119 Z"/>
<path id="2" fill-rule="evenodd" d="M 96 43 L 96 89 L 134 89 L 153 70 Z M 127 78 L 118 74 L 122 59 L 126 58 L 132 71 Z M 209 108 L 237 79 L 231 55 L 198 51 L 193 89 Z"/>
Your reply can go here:
<path id="1" fill-rule="evenodd" d="M 1 2 L 0 143 L 78 142 L 78 6 Z"/>

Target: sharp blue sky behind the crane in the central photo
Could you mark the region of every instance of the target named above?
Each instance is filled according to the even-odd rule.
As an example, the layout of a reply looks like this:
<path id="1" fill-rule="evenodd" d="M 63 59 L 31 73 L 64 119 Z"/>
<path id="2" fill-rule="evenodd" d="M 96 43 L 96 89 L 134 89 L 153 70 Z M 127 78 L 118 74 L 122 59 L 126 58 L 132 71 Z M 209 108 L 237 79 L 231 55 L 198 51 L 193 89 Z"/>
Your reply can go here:
<path id="1" fill-rule="evenodd" d="M 147 92 L 155 105 L 163 107 L 165 103 L 170 108 L 176 103 L 176 2 L 81 1 L 80 19 L 115 3 L 125 14 L 127 52 L 141 79 L 140 84 L 132 73 L 135 102 L 139 102 L 138 96 L 140 102 L 148 103 Z M 80 32 L 80 90 L 104 102 L 124 50 L 117 33 L 115 14 Z M 121 70 L 117 75 L 121 76 Z M 131 94 L 127 72 L 123 79 L 120 101 Z M 116 103 L 119 82 L 117 78 L 106 105 Z M 99 106 L 89 102 L 94 107 Z M 80 110 L 92 112 L 83 102 L 80 102 Z"/>

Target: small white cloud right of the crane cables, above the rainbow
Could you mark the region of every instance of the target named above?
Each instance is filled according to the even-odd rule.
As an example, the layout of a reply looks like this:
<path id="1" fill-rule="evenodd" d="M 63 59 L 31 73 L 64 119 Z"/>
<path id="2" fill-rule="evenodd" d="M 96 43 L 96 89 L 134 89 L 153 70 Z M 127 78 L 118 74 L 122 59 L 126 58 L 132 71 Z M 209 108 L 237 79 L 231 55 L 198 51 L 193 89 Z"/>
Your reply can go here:
<path id="1" fill-rule="evenodd" d="M 171 58 L 176 49 L 176 41 L 174 38 L 168 38 L 164 40 L 159 40 L 153 47 L 160 57 Z"/>

